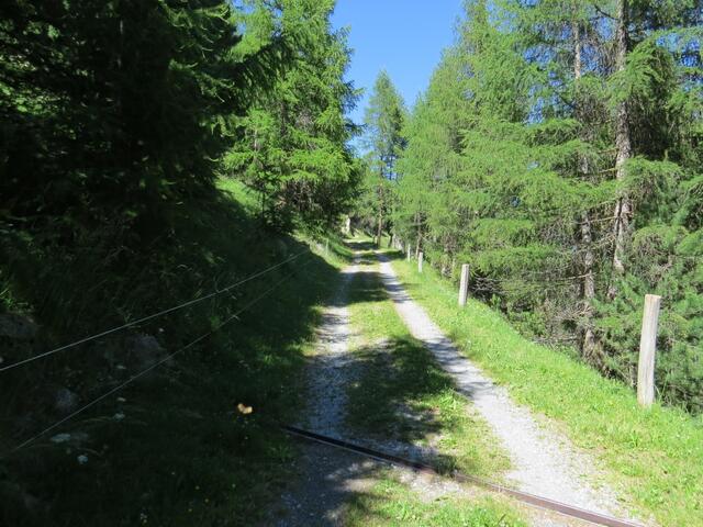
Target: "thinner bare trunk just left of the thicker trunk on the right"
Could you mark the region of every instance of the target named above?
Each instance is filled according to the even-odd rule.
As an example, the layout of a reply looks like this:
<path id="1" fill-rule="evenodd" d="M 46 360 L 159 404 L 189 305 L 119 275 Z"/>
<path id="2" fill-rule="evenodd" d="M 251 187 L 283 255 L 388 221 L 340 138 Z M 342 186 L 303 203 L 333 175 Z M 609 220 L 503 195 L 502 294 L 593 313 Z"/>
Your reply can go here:
<path id="1" fill-rule="evenodd" d="M 574 19 L 578 16 L 578 3 L 573 3 Z M 573 77 L 578 85 L 581 78 L 582 63 L 581 63 L 581 31 L 578 19 L 572 22 L 573 34 Z M 583 102 L 582 98 L 578 93 L 576 97 L 576 113 L 577 119 L 583 122 Z M 587 178 L 589 173 L 588 158 L 579 156 L 579 172 L 582 178 Z M 582 341 L 581 341 L 581 356 L 589 362 L 599 362 L 598 349 L 595 344 L 595 336 L 593 335 L 593 307 L 592 302 L 595 298 L 595 279 L 593 277 L 593 265 L 595 258 L 593 257 L 593 250 L 591 248 L 593 243 L 593 233 L 591 229 L 591 217 L 588 211 L 581 214 L 581 245 L 583 246 L 583 282 L 581 283 L 581 313 L 582 313 Z"/>

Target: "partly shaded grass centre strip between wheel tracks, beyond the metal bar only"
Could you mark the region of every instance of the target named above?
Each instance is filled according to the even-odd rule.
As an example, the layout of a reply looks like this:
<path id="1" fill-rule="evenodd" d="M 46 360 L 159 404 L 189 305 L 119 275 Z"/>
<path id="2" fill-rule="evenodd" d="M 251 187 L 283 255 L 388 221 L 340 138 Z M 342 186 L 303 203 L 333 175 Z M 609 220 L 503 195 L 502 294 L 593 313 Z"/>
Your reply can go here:
<path id="1" fill-rule="evenodd" d="M 349 305 L 361 373 L 348 389 L 348 425 L 378 438 L 432 445 L 442 468 L 500 479 L 510 466 L 507 456 L 451 378 L 410 335 L 372 253 L 365 253 Z"/>

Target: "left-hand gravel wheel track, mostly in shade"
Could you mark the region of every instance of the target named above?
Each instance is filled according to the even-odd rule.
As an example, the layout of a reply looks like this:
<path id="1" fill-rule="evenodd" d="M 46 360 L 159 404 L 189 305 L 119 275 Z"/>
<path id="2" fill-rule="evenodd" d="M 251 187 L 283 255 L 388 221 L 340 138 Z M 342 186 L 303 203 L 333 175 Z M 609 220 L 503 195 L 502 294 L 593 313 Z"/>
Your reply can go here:
<path id="1" fill-rule="evenodd" d="M 362 256 L 355 251 L 354 262 L 342 270 L 338 290 L 323 312 L 317 328 L 315 355 L 308 365 L 306 415 L 297 426 L 337 439 L 352 439 L 383 451 L 399 455 L 417 453 L 413 445 L 394 440 L 368 440 L 355 437 L 345 427 L 347 389 L 358 379 L 364 365 L 352 349 L 356 335 L 350 328 L 348 298 L 352 281 L 359 272 Z M 368 260 L 367 260 L 368 265 Z M 283 493 L 279 506 L 270 511 L 264 525 L 278 527 L 345 525 L 345 504 L 354 496 L 368 493 L 379 481 L 387 463 L 345 451 L 335 447 L 301 442 L 301 452 L 294 462 L 298 478 Z M 399 481 L 416 492 L 434 496 L 457 492 L 453 481 L 433 478 L 411 469 L 393 468 Z"/>

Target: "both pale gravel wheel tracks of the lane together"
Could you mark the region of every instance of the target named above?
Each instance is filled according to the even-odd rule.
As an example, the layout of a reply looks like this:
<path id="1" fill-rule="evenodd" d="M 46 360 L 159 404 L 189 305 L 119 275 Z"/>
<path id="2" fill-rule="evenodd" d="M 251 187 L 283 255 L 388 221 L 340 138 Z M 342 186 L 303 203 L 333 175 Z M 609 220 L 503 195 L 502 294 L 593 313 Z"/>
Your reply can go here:
<path id="1" fill-rule="evenodd" d="M 379 259 L 386 291 L 412 335 L 423 341 L 437 362 L 454 377 L 457 389 L 472 401 L 510 453 L 513 470 L 506 475 L 514 486 L 578 507 L 626 516 L 611 490 L 605 485 L 593 486 L 592 482 L 598 478 L 589 456 L 576 449 L 560 434 L 540 426 L 527 408 L 516 405 L 504 389 L 494 385 L 479 368 L 461 356 L 424 310 L 406 294 L 388 259 L 383 256 Z M 306 370 L 309 408 L 297 426 L 411 458 L 422 457 L 427 452 L 422 452 L 416 446 L 355 437 L 344 427 L 346 388 L 360 373 L 350 349 L 354 335 L 347 309 L 349 284 L 359 271 L 359 261 L 357 257 L 342 271 L 339 289 L 323 313 L 316 352 Z M 278 506 L 269 511 L 263 525 L 344 525 L 345 503 L 354 495 L 368 492 L 377 481 L 379 470 L 386 468 L 352 452 L 305 441 L 301 442 L 301 455 L 294 463 L 298 478 L 282 494 Z M 394 469 L 394 473 L 399 481 L 429 501 L 447 493 L 466 495 L 475 492 L 451 480 L 427 478 L 402 468 Z M 545 511 L 517 508 L 534 526 L 585 525 Z"/>

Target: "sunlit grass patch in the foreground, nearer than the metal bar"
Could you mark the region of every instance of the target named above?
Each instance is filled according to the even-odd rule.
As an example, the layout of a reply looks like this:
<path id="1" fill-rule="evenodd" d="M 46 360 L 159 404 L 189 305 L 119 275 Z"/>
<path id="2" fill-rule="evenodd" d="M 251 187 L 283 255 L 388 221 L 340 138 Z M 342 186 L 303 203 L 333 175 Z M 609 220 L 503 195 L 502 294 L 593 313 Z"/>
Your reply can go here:
<path id="1" fill-rule="evenodd" d="M 369 492 L 357 495 L 346 507 L 349 526 L 445 526 L 523 527 L 526 526 L 503 500 L 488 497 L 419 496 L 389 473 Z"/>

